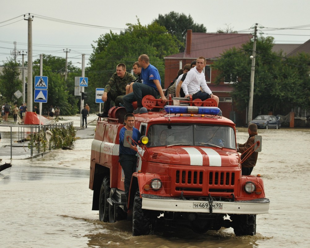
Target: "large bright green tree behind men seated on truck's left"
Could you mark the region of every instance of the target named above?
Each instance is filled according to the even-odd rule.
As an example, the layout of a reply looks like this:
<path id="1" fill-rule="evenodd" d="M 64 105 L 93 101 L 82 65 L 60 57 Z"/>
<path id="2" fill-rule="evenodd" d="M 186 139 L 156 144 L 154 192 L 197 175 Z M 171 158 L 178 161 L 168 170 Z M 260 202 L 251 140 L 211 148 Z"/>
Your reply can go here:
<path id="1" fill-rule="evenodd" d="M 127 24 L 125 32 L 116 34 L 110 31 L 95 42 L 97 46 L 93 47 L 90 67 L 86 71 L 90 82 L 87 87 L 88 96 L 92 99 L 95 99 L 95 88 L 106 85 L 116 71 L 117 64 L 126 64 L 127 71 L 130 72 L 132 64 L 141 54 L 150 57 L 150 63 L 158 69 L 163 84 L 164 57 L 178 53 L 180 44 L 175 36 L 167 33 L 165 27 L 156 22 L 142 26 L 139 20 L 138 24 Z M 91 103 L 90 105 L 95 107 Z"/>

